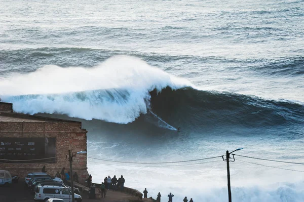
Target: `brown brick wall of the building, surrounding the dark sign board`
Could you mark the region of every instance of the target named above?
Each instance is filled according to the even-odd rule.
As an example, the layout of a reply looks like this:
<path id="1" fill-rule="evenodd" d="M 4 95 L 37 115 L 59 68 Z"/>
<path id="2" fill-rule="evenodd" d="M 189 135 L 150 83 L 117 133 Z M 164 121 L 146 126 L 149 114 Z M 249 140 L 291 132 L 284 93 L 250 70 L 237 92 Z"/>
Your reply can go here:
<path id="1" fill-rule="evenodd" d="M 0 164 L 0 170 L 8 170 L 19 177 L 25 177 L 30 172 L 41 172 L 43 166 L 46 166 L 48 174 L 54 176 L 63 167 L 68 171 L 68 150 L 78 152 L 87 149 L 87 131 L 81 129 L 80 122 L 0 122 L 0 140 L 2 137 L 56 138 L 56 164 Z M 79 181 L 83 183 L 88 177 L 86 157 L 74 156 L 72 166 L 73 172 L 77 172 Z"/>

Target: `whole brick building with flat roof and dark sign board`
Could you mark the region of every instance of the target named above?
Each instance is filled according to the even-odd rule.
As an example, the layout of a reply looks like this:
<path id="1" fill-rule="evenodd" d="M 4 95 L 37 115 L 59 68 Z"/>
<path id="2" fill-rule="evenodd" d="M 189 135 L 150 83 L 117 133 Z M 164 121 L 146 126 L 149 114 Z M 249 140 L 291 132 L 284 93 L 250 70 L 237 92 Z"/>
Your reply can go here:
<path id="1" fill-rule="evenodd" d="M 47 173 L 55 176 L 63 167 L 69 170 L 68 150 L 86 149 L 87 131 L 81 122 L 13 113 L 11 103 L 0 102 L 0 170 L 25 177 L 46 166 Z M 86 157 L 74 156 L 72 166 L 84 182 Z"/>

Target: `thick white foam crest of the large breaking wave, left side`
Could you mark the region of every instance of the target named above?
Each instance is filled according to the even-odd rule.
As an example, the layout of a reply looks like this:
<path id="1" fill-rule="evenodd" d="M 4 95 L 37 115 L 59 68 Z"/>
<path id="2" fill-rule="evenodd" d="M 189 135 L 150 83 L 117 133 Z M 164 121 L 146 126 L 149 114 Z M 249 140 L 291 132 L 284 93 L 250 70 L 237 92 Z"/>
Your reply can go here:
<path id="1" fill-rule="evenodd" d="M 0 79 L 2 101 L 15 112 L 59 113 L 127 124 L 147 112 L 149 91 L 192 86 L 139 58 L 115 56 L 94 68 L 48 65 Z"/>

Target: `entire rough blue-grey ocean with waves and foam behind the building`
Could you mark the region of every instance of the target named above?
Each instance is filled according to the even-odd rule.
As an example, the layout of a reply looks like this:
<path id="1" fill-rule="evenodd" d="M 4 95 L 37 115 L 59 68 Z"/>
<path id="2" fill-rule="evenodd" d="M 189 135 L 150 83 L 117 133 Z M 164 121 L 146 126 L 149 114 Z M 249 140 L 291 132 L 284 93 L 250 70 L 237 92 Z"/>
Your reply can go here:
<path id="1" fill-rule="evenodd" d="M 227 201 L 226 150 L 304 163 L 303 0 L 0 5 L 1 101 L 81 121 L 93 182 Z M 233 201 L 303 201 L 303 165 L 243 156 Z"/>

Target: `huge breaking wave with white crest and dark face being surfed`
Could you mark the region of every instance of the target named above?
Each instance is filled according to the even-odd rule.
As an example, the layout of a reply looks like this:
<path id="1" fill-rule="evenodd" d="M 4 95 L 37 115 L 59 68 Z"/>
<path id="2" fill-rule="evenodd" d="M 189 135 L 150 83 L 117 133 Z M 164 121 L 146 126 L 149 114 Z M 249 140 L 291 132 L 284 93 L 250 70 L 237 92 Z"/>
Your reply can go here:
<path id="1" fill-rule="evenodd" d="M 0 80 L 3 101 L 22 113 L 67 114 L 128 124 L 141 114 L 162 128 L 303 123 L 303 106 L 196 89 L 144 61 L 116 56 L 94 68 L 45 66 Z M 172 127 L 170 123 L 174 123 Z"/>

